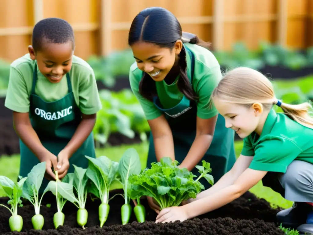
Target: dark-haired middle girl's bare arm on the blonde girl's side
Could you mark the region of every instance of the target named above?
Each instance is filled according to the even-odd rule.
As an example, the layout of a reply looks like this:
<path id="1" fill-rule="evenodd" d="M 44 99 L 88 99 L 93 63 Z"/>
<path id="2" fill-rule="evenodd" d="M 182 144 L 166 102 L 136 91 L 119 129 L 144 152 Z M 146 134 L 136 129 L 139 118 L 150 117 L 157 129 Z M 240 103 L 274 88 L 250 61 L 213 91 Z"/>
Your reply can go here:
<path id="1" fill-rule="evenodd" d="M 186 158 L 179 166 L 180 168 L 186 167 L 189 171 L 193 170 L 205 152 L 208 151 L 212 143 L 217 117 L 218 115 L 209 119 L 197 117 L 196 137 Z"/>

